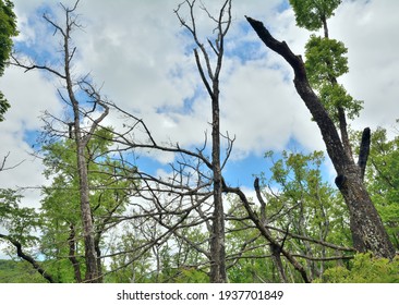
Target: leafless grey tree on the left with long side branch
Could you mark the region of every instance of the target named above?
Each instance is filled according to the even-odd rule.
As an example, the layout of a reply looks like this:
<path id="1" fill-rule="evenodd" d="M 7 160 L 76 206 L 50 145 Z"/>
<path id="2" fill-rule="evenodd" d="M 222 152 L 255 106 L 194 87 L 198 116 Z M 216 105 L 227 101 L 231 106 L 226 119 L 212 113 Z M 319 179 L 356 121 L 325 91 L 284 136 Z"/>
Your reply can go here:
<path id="1" fill-rule="evenodd" d="M 55 34 L 58 33 L 61 36 L 63 47 L 61 51 L 63 59 L 62 70 L 51 68 L 48 64 L 39 64 L 34 62 L 23 63 L 19 59 L 16 59 L 16 57 L 13 57 L 12 64 L 23 68 L 25 69 L 25 71 L 44 70 L 59 78 L 64 84 L 66 96 L 64 96 L 61 90 L 59 90 L 59 95 L 62 100 L 71 107 L 71 110 L 73 112 L 73 124 L 65 124 L 69 126 L 69 131 L 73 126 L 73 138 L 76 144 L 76 166 L 80 184 L 83 237 L 85 245 L 85 281 L 97 282 L 100 279 L 100 274 L 97 265 L 95 230 L 89 204 L 86 147 L 94 132 L 99 126 L 99 123 L 107 117 L 109 108 L 101 99 L 98 90 L 89 83 L 87 76 L 76 81 L 72 75 L 72 61 L 76 52 L 76 47 L 73 47 L 71 37 L 72 32 L 81 27 L 81 25 L 78 24 L 77 15 L 75 14 L 78 2 L 80 1 L 77 0 L 72 8 L 66 8 L 63 4 L 60 4 L 64 11 L 64 25 L 60 25 L 47 14 L 44 15 L 44 19 L 55 28 Z M 80 101 L 80 99 L 76 97 L 76 89 L 80 89 L 81 91 L 86 94 L 86 97 L 88 97 L 90 103 L 93 105 L 92 109 L 85 109 L 84 102 Z M 97 118 L 93 118 L 93 112 L 95 111 L 100 112 Z M 90 122 L 88 126 L 83 126 L 83 119 L 86 119 Z"/>

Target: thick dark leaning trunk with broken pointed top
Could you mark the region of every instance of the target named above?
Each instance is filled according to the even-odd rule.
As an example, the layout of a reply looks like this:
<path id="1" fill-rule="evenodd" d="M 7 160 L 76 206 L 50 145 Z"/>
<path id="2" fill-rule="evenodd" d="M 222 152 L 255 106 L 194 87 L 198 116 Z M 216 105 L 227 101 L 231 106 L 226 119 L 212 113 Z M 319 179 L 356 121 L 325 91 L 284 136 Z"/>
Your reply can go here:
<path id="1" fill-rule="evenodd" d="M 389 241 L 377 210 L 362 181 L 361 170 L 348 156 L 329 114 L 309 84 L 302 58 L 295 56 L 285 41 L 276 40 L 262 22 L 246 16 L 262 41 L 280 54 L 294 71 L 294 86 L 306 105 L 322 133 L 328 156 L 337 171 L 336 184 L 350 212 L 353 247 L 359 252 L 372 252 L 375 256 L 392 258 L 395 247 Z"/>

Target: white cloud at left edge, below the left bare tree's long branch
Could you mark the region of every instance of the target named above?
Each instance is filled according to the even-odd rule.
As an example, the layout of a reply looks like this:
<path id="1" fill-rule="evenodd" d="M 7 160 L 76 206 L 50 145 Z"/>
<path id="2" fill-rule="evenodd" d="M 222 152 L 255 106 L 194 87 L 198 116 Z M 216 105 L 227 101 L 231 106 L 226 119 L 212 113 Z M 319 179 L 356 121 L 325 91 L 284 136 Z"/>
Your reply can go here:
<path id="1" fill-rule="evenodd" d="M 40 160 L 32 155 L 34 150 L 27 142 L 32 143 L 35 139 L 27 138 L 26 132 L 41 127 L 39 117 L 45 109 L 53 114 L 60 113 L 56 88 L 40 73 L 23 73 L 15 68 L 7 69 L 0 78 L 0 86 L 11 103 L 5 113 L 5 121 L 0 125 L 0 158 L 2 160 L 10 154 L 5 168 L 23 162 L 14 169 L 0 172 L 0 187 L 41 185 L 45 183 L 40 175 L 43 166 Z M 25 205 L 38 205 L 39 192 L 25 191 L 24 195 Z"/>

